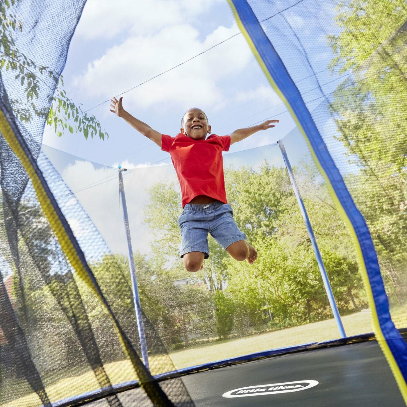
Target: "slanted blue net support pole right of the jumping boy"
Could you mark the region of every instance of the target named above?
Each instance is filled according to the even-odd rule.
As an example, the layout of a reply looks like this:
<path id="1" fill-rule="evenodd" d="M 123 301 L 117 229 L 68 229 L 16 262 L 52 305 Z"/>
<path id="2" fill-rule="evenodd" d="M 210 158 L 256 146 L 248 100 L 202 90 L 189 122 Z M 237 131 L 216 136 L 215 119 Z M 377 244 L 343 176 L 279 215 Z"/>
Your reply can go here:
<path id="1" fill-rule="evenodd" d="M 300 207 L 300 211 L 301 211 L 302 217 L 304 218 L 306 229 L 307 229 L 309 237 L 311 239 L 312 247 L 315 252 L 315 257 L 317 258 L 319 271 L 321 272 L 322 281 L 324 282 L 326 295 L 328 295 L 329 304 L 332 309 L 332 313 L 335 318 L 335 322 L 338 326 L 341 337 L 346 338 L 344 326 L 342 324 L 341 316 L 339 315 L 338 307 L 336 305 L 335 298 L 333 296 L 332 288 L 329 284 L 329 279 L 328 279 L 328 275 L 326 274 L 324 262 L 322 261 L 322 256 L 321 256 L 321 253 L 319 252 L 317 241 L 315 240 L 314 231 L 312 229 L 311 222 L 310 222 L 308 214 L 306 212 L 306 209 L 304 206 L 304 201 L 302 200 L 300 191 L 298 190 L 297 183 L 295 182 L 293 169 L 291 168 L 291 164 L 288 159 L 287 152 L 285 151 L 285 147 L 284 147 L 282 140 L 278 141 L 278 146 L 280 147 L 281 154 L 284 159 L 284 163 L 287 168 L 288 175 L 290 177 L 291 185 L 293 186 L 294 194 L 295 194 L 295 197 L 297 198 L 298 206 Z"/>

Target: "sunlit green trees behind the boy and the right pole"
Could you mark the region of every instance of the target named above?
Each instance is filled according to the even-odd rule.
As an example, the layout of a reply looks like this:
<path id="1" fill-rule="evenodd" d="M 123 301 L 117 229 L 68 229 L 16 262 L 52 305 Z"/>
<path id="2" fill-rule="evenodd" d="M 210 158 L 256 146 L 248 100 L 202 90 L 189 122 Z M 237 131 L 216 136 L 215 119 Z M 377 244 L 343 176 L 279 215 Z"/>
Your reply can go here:
<path id="1" fill-rule="evenodd" d="M 296 177 L 339 310 L 358 311 L 366 301 L 351 237 L 316 169 L 302 164 Z M 153 242 L 153 256 L 165 254 L 165 261 L 159 262 L 161 267 L 167 268 L 174 279 L 186 276 L 191 282 L 187 290 L 194 283 L 207 282 L 208 291 L 213 293 L 207 300 L 213 301 L 221 338 L 332 317 L 285 168 L 267 162 L 257 171 L 250 167 L 228 168 L 225 185 L 234 219 L 259 252 L 256 263 L 250 266 L 246 261 L 236 262 L 209 239 L 210 258 L 204 260 L 204 270 L 195 274 L 182 271 L 177 256 L 181 199 L 175 185 L 161 182 L 150 189 L 147 208 L 147 224 L 157 239 Z"/>

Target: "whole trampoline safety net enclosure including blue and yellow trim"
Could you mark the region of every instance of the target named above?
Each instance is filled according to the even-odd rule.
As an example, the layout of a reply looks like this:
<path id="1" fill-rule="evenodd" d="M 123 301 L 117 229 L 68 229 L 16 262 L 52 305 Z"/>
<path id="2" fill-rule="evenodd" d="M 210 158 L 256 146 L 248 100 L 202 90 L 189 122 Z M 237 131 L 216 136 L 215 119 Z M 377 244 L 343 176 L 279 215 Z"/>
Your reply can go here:
<path id="1" fill-rule="evenodd" d="M 191 276 L 171 165 L 118 175 L 41 144 L 85 2 L 0 2 L 0 405 L 407 400 L 407 5 L 229 3 L 297 127 L 224 155 L 256 264 L 210 238 Z"/>

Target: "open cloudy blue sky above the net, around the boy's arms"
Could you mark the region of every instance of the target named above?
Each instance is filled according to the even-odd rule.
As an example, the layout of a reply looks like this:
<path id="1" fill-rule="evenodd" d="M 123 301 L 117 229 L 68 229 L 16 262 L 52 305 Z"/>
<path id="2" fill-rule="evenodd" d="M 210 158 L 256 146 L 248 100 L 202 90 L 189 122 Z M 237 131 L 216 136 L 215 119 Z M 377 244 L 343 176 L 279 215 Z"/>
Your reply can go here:
<path id="1" fill-rule="evenodd" d="M 63 72 L 67 94 L 89 109 L 238 32 L 225 0 L 121 0 L 114 6 L 88 0 Z M 171 135 L 192 106 L 205 110 L 219 135 L 286 110 L 241 34 L 123 96 L 131 114 Z M 124 160 L 128 166 L 152 164 L 168 157 L 109 112 L 109 103 L 92 113 L 109 140 L 85 141 L 69 132 L 57 138 L 48 130 L 44 144 L 107 165 Z M 277 118 L 278 127 L 236 143 L 230 151 L 269 144 L 295 127 L 288 113 Z"/>

